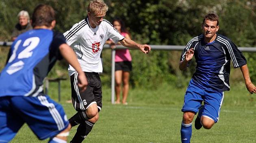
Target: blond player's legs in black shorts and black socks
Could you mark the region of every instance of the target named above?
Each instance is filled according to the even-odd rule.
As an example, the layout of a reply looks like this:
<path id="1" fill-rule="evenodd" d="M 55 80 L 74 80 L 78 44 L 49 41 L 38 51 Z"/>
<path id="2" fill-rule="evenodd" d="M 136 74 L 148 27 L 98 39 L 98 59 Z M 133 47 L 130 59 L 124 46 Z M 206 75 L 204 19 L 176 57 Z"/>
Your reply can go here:
<path id="1" fill-rule="evenodd" d="M 78 113 L 69 119 L 69 122 L 72 125 L 79 124 L 71 143 L 81 143 L 85 137 L 87 137 L 89 132 L 91 132 L 93 125 L 97 122 L 99 118 L 98 111 L 100 111 L 102 107 L 100 76 L 97 73 L 86 73 L 86 75 L 89 81 L 87 89 L 82 93 L 77 93 L 79 99 L 83 102 L 74 104 L 76 105 L 75 108 Z"/>

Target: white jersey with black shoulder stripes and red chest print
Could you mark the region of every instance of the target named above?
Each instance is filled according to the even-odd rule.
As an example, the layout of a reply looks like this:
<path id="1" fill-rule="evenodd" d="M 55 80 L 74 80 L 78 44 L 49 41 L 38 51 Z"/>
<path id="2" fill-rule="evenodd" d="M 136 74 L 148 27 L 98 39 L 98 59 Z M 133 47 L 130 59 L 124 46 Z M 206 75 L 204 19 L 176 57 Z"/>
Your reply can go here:
<path id="1" fill-rule="evenodd" d="M 97 27 L 92 28 L 88 18 L 74 24 L 64 33 L 64 36 L 67 44 L 74 49 L 82 71 L 98 73 L 102 73 L 100 53 L 106 40 L 111 38 L 114 42 L 118 42 L 124 39 L 124 36 L 106 19 L 103 19 Z M 71 76 L 76 70 L 69 65 L 68 71 Z"/>

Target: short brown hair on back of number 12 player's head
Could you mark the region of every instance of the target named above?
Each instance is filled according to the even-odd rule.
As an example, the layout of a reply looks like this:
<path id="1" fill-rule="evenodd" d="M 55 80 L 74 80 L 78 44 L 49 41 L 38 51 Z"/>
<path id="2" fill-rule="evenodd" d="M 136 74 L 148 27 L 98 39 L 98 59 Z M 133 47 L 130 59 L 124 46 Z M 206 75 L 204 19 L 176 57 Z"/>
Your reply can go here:
<path id="1" fill-rule="evenodd" d="M 55 11 L 52 6 L 46 4 L 39 4 L 32 15 L 32 26 L 47 26 L 50 27 L 52 21 L 55 20 Z"/>

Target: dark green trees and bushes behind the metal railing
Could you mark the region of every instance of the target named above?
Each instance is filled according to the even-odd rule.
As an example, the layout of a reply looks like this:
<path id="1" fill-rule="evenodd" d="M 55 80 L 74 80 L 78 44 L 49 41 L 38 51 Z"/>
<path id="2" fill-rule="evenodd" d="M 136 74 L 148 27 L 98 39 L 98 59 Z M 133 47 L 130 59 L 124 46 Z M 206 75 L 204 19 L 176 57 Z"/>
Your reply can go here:
<path id="1" fill-rule="evenodd" d="M 216 12 L 220 18 L 219 33 L 237 46 L 256 46 L 255 0 L 105 0 L 109 6 L 106 19 L 124 20 L 133 40 L 147 44 L 185 45 L 202 32 L 206 13 Z M 31 14 L 39 3 L 50 4 L 56 10 L 56 30 L 65 32 L 87 16 L 89 0 L 1 0 L 0 40 L 9 41 L 17 14 L 26 10 Z M 185 87 L 193 72 L 195 61 L 187 71 L 178 69 L 180 51 L 156 51 L 150 55 L 132 50 L 133 86 L 154 87 L 155 83 Z M 111 50 L 103 51 L 103 84 L 110 85 Z M 255 54 L 246 54 L 252 81 L 256 81 Z M 2 58 L 2 57 L 1 57 Z M 1 59 L 2 61 L 2 59 Z M 5 60 L 4 60 L 5 62 Z M 4 63 L 2 62 L 2 63 Z M 0 65 L 3 66 L 3 65 Z M 1 68 L 1 67 L 0 67 Z M 67 76 L 64 61 L 54 67 L 50 76 Z M 152 82 L 152 80 L 154 82 Z"/>

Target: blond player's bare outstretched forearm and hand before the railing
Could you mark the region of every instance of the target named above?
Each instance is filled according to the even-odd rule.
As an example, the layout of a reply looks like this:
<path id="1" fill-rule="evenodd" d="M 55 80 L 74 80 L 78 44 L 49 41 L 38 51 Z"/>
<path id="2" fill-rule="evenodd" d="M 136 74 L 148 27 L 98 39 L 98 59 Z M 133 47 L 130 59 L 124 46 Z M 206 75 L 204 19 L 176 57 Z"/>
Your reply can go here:
<path id="1" fill-rule="evenodd" d="M 124 38 L 123 40 L 120 41 L 120 43 L 128 48 L 138 48 L 140 49 L 143 53 L 148 54 L 151 50 L 151 47 L 147 44 L 138 44 L 128 38 Z"/>

